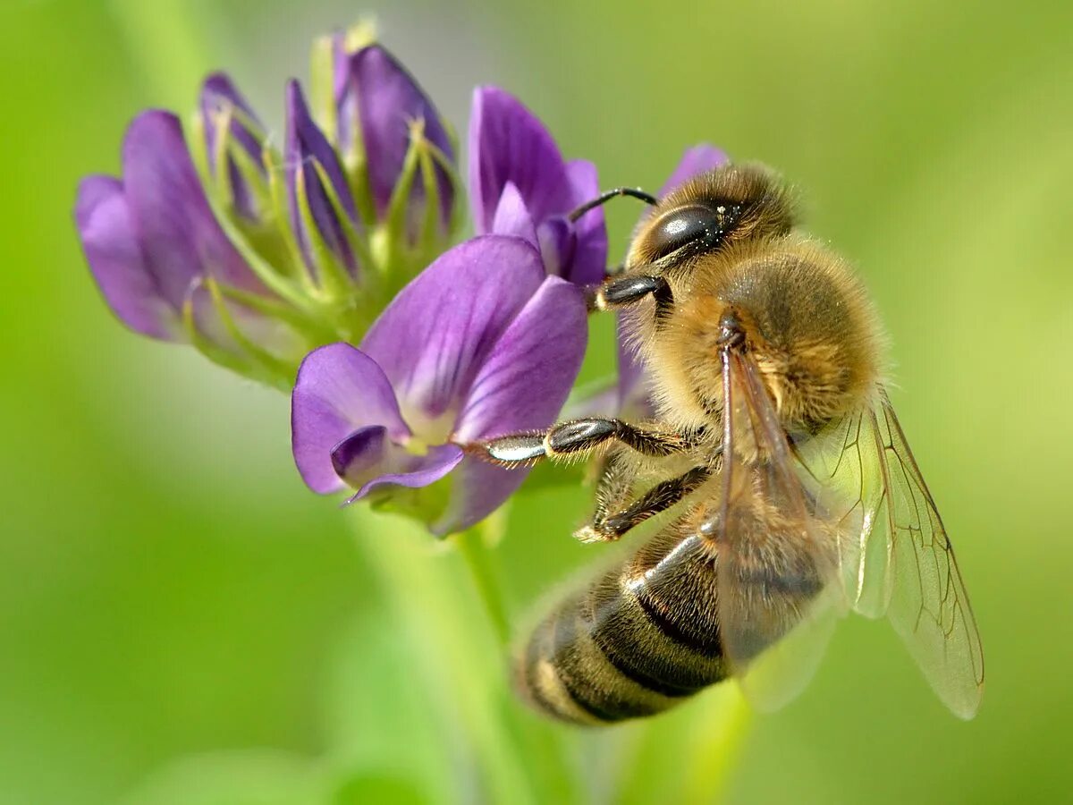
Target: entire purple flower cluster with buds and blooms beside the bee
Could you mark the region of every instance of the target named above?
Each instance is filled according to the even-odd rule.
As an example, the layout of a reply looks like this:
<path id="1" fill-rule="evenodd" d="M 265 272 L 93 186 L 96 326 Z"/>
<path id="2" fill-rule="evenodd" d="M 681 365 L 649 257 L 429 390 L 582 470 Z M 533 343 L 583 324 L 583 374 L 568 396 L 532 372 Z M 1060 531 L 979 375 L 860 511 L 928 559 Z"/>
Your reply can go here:
<path id="1" fill-rule="evenodd" d="M 168 112 L 138 116 L 122 178 L 79 187 L 83 248 L 129 327 L 292 391 L 311 489 L 461 530 L 526 474 L 467 445 L 549 425 L 580 367 L 579 288 L 604 278 L 607 234 L 601 209 L 570 213 L 599 195 L 597 171 L 564 160 L 515 98 L 477 88 L 474 237 L 450 248 L 462 194 L 450 125 L 363 29 L 320 40 L 313 63 L 309 100 L 286 85 L 282 150 L 222 74 L 186 135 Z M 723 160 L 688 151 L 664 192 Z M 642 414 L 624 341 L 619 361 L 603 413 Z"/>

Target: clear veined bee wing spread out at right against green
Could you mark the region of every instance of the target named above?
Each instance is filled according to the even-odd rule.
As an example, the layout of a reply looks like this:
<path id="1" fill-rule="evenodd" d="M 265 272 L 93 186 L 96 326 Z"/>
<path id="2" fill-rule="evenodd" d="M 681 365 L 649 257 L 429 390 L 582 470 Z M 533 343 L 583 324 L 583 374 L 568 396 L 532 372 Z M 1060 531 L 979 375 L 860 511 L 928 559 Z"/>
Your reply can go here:
<path id="1" fill-rule="evenodd" d="M 795 452 L 818 515 L 839 524 L 852 608 L 886 615 L 939 698 L 961 718 L 980 706 L 984 658 L 954 548 L 886 393 Z"/>

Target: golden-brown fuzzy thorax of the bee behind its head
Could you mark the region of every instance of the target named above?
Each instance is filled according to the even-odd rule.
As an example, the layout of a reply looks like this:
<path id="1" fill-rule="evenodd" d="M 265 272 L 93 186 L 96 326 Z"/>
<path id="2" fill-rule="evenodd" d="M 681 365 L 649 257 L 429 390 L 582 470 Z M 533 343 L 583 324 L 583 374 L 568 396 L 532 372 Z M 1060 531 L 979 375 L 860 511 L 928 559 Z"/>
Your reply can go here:
<path id="1" fill-rule="evenodd" d="M 634 319 L 663 419 L 690 428 L 721 412 L 727 310 L 788 426 L 813 429 L 870 400 L 879 324 L 849 266 L 821 245 L 794 235 L 749 239 L 666 276 L 673 308 L 660 321 L 650 312 Z"/>

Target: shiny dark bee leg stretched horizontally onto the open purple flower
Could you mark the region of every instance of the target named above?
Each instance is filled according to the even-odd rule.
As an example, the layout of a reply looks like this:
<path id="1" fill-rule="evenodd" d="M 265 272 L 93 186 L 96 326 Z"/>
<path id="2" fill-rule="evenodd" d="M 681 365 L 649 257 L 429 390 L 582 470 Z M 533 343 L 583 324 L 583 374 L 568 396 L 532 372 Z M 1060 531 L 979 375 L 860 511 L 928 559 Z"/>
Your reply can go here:
<path id="1" fill-rule="evenodd" d="M 652 457 L 668 456 L 689 447 L 681 434 L 631 425 L 622 420 L 590 418 L 562 422 L 546 431 L 501 436 L 477 442 L 471 449 L 496 464 L 515 467 L 541 458 L 584 458 L 613 441 Z"/>

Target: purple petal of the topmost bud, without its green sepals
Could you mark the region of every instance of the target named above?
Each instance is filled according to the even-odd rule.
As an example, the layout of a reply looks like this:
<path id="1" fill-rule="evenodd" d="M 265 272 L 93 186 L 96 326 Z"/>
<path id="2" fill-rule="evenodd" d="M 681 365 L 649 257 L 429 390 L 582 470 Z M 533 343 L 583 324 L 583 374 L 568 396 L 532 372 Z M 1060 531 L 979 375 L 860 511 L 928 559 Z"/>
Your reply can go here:
<path id="1" fill-rule="evenodd" d="M 359 114 L 366 170 L 381 217 L 387 210 L 392 191 L 402 172 L 414 120 L 424 120 L 425 138 L 449 160 L 455 158 L 451 137 L 432 102 L 407 70 L 379 45 L 362 48 L 350 57 L 350 80 L 343 85 L 342 94 L 337 96 L 337 103 L 340 120 L 353 119 L 354 106 Z M 437 167 L 437 173 L 441 211 L 446 223 L 454 204 L 453 187 L 442 169 Z M 414 192 L 422 192 L 420 177 L 414 182 Z"/>

